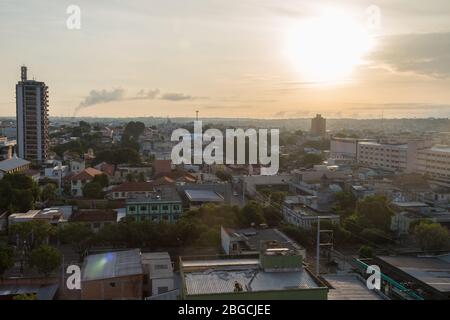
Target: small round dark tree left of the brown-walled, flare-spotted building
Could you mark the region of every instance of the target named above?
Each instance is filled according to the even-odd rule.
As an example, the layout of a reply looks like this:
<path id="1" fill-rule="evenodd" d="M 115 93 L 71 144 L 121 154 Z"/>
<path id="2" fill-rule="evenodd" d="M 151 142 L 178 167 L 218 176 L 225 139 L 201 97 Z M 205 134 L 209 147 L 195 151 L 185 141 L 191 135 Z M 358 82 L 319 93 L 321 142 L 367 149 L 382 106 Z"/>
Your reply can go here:
<path id="1" fill-rule="evenodd" d="M 56 248 L 43 245 L 31 251 L 29 264 L 48 277 L 61 266 L 62 255 Z"/>

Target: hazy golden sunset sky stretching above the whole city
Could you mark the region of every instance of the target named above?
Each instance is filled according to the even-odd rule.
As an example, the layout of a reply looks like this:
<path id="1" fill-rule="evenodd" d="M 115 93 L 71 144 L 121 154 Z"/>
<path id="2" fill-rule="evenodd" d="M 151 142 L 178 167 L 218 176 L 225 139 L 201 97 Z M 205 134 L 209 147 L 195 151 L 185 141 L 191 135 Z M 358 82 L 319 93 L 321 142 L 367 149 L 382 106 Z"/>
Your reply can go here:
<path id="1" fill-rule="evenodd" d="M 448 0 L 0 0 L 0 116 L 27 65 L 51 116 L 447 118 L 449 17 Z"/>

